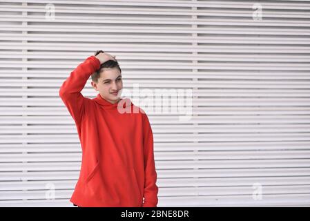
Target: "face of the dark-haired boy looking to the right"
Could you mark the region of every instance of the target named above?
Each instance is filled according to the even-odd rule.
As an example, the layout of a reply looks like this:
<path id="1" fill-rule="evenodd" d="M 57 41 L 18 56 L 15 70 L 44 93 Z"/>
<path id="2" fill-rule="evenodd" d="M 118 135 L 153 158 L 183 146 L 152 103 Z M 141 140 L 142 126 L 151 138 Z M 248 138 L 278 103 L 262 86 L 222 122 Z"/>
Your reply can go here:
<path id="1" fill-rule="evenodd" d="M 119 101 L 122 94 L 123 81 L 122 74 L 118 68 L 103 68 L 98 82 L 92 81 L 91 84 L 95 90 L 99 91 L 101 97 L 104 97 L 108 102 L 115 104 Z"/>

